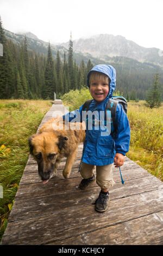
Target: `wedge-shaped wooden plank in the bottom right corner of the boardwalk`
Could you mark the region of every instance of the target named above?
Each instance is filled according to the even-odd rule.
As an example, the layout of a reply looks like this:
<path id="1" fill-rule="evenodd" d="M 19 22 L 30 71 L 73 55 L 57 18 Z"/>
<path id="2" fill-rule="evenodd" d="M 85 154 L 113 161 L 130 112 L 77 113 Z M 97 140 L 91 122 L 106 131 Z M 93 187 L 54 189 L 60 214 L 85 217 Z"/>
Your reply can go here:
<path id="1" fill-rule="evenodd" d="M 163 211 L 49 245 L 162 245 Z"/>

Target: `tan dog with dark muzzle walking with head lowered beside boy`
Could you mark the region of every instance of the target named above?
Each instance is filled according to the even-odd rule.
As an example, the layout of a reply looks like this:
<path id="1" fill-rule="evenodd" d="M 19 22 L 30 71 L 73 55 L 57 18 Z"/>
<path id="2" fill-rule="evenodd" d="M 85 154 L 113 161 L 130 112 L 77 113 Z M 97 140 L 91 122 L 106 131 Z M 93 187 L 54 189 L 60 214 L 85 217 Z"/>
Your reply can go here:
<path id="1" fill-rule="evenodd" d="M 29 137 L 29 150 L 37 161 L 43 183 L 56 174 L 62 157 L 67 157 L 62 174 L 65 178 L 70 176 L 77 147 L 85 140 L 85 123 L 71 123 L 71 127 L 68 123 L 68 127 L 64 122 L 60 126 L 58 121 L 60 118 L 49 120 L 38 134 Z"/>

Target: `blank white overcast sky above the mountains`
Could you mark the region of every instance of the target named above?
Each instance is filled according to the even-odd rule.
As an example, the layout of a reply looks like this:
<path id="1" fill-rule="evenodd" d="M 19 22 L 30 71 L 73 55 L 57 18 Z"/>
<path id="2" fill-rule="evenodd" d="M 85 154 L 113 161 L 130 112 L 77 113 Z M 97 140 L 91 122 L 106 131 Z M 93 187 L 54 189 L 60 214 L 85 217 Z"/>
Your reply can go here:
<path id="1" fill-rule="evenodd" d="M 96 34 L 122 35 L 163 50 L 163 0 L 0 0 L 3 27 L 62 43 Z"/>

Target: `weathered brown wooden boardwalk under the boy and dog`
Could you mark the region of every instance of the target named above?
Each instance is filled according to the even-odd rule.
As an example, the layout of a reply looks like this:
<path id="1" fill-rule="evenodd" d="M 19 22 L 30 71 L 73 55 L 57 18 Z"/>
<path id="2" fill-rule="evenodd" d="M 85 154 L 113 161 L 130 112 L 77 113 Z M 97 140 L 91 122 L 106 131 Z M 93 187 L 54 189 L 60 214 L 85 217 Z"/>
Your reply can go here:
<path id="1" fill-rule="evenodd" d="M 53 104 L 40 127 L 57 110 L 63 112 L 64 106 Z M 77 189 L 82 180 L 78 172 L 82 148 L 70 178 L 62 176 L 66 160 L 62 159 L 57 176 L 44 185 L 29 156 L 2 245 L 163 244 L 163 183 L 126 157 L 121 168 L 125 183 L 118 168 L 113 168 L 116 183 L 110 189 L 110 204 L 106 212 L 98 213 L 97 184 Z"/>

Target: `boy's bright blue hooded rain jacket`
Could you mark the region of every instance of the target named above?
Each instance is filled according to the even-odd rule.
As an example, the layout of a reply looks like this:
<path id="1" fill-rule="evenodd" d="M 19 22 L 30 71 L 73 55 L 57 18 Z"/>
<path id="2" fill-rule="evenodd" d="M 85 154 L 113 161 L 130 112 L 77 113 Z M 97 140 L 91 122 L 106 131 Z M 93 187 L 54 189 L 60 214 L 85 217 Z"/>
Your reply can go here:
<path id="1" fill-rule="evenodd" d="M 108 96 L 103 102 L 97 104 L 93 99 L 89 106 L 89 110 L 95 113 L 96 120 L 100 119 L 100 112 L 105 111 L 106 104 L 109 98 L 112 97 L 112 93 L 116 87 L 116 71 L 112 66 L 99 64 L 91 69 L 97 72 L 104 73 L 110 78 L 110 90 Z M 90 72 L 91 72 L 90 71 Z M 87 75 L 87 86 L 89 86 L 89 74 Z M 80 122 L 80 117 L 83 117 L 83 105 L 78 110 L 67 113 L 64 116 L 67 122 Z M 92 124 L 92 118 L 88 118 L 88 122 Z M 101 119 L 100 119 L 101 120 Z M 116 140 L 112 139 L 109 135 L 108 128 L 106 126 L 92 126 L 92 129 L 86 129 L 85 142 L 83 147 L 82 161 L 86 164 L 92 164 L 96 166 L 108 165 L 114 163 L 115 153 L 125 154 L 129 151 L 130 142 L 130 127 L 126 113 L 122 109 L 120 104 L 116 109 L 116 122 L 118 123 L 118 137 Z M 104 129 L 105 128 L 105 129 Z M 103 132 L 103 131 L 106 131 Z"/>

